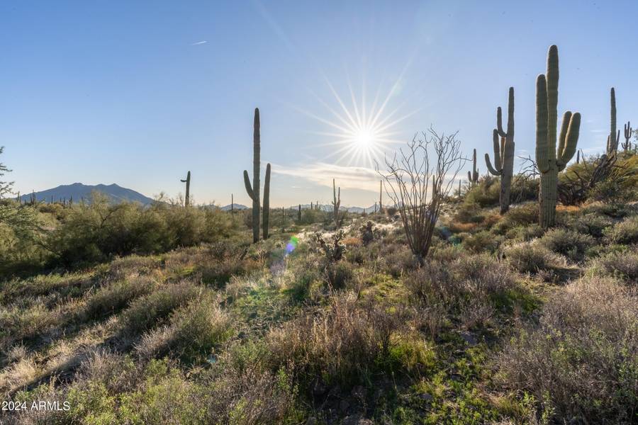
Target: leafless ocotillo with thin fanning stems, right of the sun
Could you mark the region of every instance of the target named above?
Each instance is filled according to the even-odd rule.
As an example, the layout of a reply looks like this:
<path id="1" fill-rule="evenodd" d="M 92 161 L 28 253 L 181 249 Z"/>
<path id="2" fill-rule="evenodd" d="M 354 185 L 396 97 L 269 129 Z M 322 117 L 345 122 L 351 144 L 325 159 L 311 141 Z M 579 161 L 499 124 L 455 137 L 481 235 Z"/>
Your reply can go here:
<path id="1" fill-rule="evenodd" d="M 407 148 L 386 157 L 386 171 L 376 166 L 386 193 L 401 215 L 408 246 L 420 263 L 430 251 L 442 201 L 467 161 L 457 134 L 439 134 L 430 127 L 422 132 L 422 138 L 415 136 Z"/>

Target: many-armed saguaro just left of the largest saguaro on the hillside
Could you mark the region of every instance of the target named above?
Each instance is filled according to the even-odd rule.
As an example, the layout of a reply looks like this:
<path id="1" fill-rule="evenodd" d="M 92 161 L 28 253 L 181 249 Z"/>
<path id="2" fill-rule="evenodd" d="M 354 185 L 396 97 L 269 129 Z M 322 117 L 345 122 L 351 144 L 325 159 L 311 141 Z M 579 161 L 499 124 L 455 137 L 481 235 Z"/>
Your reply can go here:
<path id="1" fill-rule="evenodd" d="M 496 127 L 492 133 L 494 144 L 494 166 L 489 154 L 485 154 L 485 163 L 491 174 L 500 176 L 500 213 L 510 209 L 510 188 L 514 173 L 514 87 L 510 87 L 508 98 L 508 131 L 503 131 L 503 118 L 500 106 L 496 109 Z M 500 144 L 498 143 L 500 136 Z"/>

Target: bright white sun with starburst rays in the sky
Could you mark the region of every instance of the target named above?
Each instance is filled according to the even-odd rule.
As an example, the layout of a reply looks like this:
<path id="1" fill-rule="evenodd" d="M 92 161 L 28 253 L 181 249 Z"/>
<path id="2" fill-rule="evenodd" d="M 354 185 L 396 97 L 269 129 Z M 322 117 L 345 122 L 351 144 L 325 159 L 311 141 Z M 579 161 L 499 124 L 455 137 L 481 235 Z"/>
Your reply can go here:
<path id="1" fill-rule="evenodd" d="M 373 101 L 368 102 L 365 86 L 362 86 L 359 96 L 356 96 L 352 84 L 348 81 L 349 102 L 346 103 L 326 79 L 326 84 L 334 96 L 332 102 L 334 106 L 319 96 L 313 95 L 330 113 L 328 118 L 298 109 L 330 128 L 330 131 L 312 132 L 315 135 L 330 138 L 329 142 L 318 145 L 328 147 L 328 154 L 324 159 L 336 158 L 337 164 L 345 163 L 347 166 L 374 167 L 376 163 L 382 162 L 390 145 L 405 142 L 396 138 L 401 134 L 397 125 L 417 111 L 400 115 L 401 107 L 394 109 L 389 107 L 399 83 L 400 81 L 396 81 L 386 96 L 381 96 L 381 87 L 379 87 Z"/>

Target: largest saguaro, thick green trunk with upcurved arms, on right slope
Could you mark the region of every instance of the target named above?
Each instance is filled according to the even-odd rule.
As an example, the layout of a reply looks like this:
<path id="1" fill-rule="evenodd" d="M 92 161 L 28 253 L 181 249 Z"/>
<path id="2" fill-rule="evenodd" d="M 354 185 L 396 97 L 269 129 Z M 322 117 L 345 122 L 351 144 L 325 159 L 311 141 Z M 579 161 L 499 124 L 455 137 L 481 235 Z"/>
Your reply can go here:
<path id="1" fill-rule="evenodd" d="M 539 223 L 547 229 L 556 222 L 556 190 L 558 174 L 576 153 L 581 114 L 567 111 L 563 115 L 558 152 L 558 47 L 552 45 L 547 54 L 547 74 L 536 79 L 536 163 L 540 171 Z"/>

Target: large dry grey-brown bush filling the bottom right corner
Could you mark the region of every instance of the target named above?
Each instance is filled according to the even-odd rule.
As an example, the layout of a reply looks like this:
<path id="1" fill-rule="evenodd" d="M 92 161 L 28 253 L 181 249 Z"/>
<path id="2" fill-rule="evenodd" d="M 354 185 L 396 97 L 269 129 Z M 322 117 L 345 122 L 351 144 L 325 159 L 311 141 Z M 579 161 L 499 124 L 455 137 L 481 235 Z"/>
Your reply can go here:
<path id="1" fill-rule="evenodd" d="M 638 405 L 638 295 L 610 278 L 570 283 L 498 356 L 505 385 L 555 421 L 628 423 Z"/>

